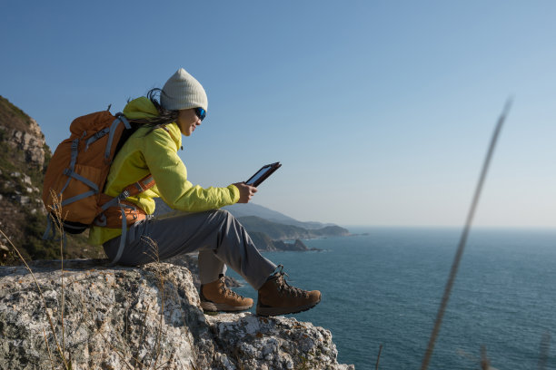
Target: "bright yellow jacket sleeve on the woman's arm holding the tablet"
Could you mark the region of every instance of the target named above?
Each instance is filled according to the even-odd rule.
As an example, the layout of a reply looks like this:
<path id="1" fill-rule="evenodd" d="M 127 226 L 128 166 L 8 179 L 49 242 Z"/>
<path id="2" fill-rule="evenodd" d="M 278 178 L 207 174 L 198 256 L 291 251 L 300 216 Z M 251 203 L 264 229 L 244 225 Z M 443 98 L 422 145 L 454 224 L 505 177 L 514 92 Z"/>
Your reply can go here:
<path id="1" fill-rule="evenodd" d="M 161 198 L 173 209 L 199 212 L 239 200 L 239 190 L 234 185 L 204 189 L 189 182 L 184 162 L 178 157 L 176 144 L 167 131 L 159 129 L 147 134 L 142 153 Z"/>

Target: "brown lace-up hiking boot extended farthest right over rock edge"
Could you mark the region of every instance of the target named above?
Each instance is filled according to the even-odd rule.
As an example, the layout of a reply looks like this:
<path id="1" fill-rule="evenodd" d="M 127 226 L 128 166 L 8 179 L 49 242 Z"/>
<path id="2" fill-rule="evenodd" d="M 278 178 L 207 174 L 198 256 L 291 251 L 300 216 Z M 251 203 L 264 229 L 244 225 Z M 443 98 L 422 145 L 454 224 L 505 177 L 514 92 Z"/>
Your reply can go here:
<path id="1" fill-rule="evenodd" d="M 257 299 L 257 315 L 277 316 L 295 314 L 306 311 L 316 306 L 321 301 L 321 292 L 318 290 L 303 290 L 292 287 L 286 283 L 282 272 L 283 266 L 278 266 L 280 271 L 274 273 L 259 289 Z"/>

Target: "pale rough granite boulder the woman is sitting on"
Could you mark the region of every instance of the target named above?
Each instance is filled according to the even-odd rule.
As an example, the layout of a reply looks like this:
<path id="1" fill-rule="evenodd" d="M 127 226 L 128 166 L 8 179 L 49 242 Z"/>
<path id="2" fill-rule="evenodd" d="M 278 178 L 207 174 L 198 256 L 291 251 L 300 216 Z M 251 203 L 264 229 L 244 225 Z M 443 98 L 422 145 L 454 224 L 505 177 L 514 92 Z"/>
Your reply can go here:
<path id="1" fill-rule="evenodd" d="M 59 261 L 32 268 L 44 300 L 25 268 L 0 268 L 0 368 L 58 368 L 56 341 L 74 369 L 353 368 L 337 363 L 322 327 L 285 317 L 205 316 L 186 268 L 65 261 L 64 289 Z"/>

